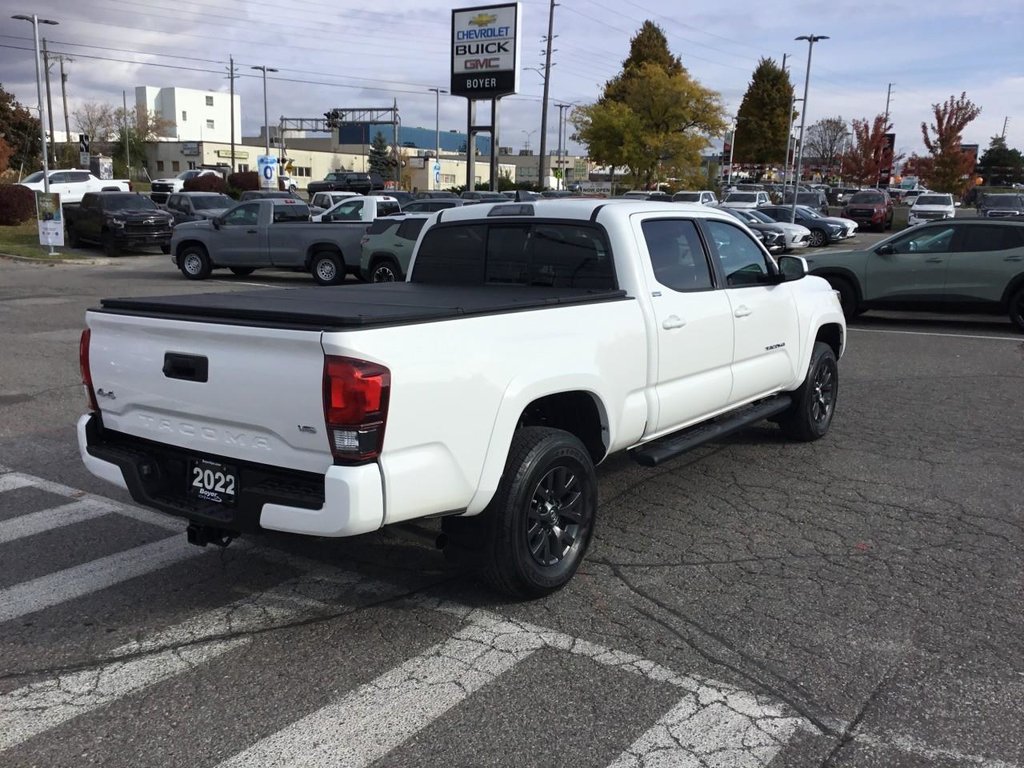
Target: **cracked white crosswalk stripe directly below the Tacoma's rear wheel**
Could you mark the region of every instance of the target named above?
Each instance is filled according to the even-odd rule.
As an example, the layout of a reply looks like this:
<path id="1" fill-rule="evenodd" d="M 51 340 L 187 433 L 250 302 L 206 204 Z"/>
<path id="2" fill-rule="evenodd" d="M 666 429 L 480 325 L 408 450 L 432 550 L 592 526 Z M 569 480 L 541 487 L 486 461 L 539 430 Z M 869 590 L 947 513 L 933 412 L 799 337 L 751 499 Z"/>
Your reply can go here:
<path id="1" fill-rule="evenodd" d="M 543 645 L 515 624 L 473 622 L 220 766 L 370 765 Z"/>

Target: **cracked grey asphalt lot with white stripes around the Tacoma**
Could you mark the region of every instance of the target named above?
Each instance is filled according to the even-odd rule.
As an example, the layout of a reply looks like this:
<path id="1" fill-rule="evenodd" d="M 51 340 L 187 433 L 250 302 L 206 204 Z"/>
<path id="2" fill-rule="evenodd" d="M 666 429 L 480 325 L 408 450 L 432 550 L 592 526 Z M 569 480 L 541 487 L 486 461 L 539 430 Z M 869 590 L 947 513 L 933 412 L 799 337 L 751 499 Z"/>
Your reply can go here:
<path id="1" fill-rule="evenodd" d="M 821 442 L 609 460 L 580 575 L 510 604 L 383 535 L 189 547 L 81 467 L 86 307 L 308 282 L 0 260 L 0 763 L 1024 765 L 1005 318 L 865 314 Z"/>

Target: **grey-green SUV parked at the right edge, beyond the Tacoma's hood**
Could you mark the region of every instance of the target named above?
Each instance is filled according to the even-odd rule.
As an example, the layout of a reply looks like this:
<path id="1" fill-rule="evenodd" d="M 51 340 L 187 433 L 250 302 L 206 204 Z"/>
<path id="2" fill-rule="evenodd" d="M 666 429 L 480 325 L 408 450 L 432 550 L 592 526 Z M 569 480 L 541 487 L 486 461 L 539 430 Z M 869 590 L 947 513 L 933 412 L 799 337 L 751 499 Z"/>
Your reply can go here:
<path id="1" fill-rule="evenodd" d="M 839 293 L 847 317 L 876 307 L 992 311 L 1024 332 L 1024 220 L 929 221 L 807 262 Z"/>

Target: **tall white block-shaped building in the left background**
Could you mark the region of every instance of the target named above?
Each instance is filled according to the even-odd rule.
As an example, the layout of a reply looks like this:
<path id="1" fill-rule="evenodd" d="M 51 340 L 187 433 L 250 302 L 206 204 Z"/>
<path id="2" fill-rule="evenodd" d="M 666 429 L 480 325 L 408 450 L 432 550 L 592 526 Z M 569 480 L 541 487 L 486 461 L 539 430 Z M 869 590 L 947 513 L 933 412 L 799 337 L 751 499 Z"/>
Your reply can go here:
<path id="1" fill-rule="evenodd" d="M 135 88 L 135 106 L 172 123 L 167 136 L 177 141 L 231 140 L 231 98 L 222 91 L 193 88 Z M 234 95 L 234 140 L 242 140 L 242 101 Z"/>

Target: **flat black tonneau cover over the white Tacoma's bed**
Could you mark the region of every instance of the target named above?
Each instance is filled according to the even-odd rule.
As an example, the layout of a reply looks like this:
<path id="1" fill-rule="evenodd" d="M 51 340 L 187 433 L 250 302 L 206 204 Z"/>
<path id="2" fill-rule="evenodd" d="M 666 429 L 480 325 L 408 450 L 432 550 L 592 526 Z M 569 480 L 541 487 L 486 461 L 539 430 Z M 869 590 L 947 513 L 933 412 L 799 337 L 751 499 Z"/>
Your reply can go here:
<path id="1" fill-rule="evenodd" d="M 627 299 L 625 291 L 376 283 L 102 299 L 94 311 L 197 323 L 353 330 Z"/>

